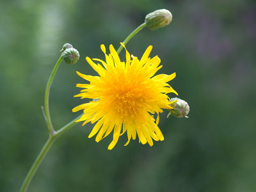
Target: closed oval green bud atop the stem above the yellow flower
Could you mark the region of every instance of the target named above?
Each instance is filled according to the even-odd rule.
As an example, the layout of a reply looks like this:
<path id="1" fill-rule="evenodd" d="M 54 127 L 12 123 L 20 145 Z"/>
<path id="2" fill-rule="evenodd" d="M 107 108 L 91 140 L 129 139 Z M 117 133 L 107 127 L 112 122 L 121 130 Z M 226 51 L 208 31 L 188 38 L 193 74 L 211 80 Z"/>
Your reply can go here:
<path id="1" fill-rule="evenodd" d="M 167 26 L 172 21 L 172 13 L 168 10 L 156 10 L 145 17 L 146 26 L 150 30 L 156 30 Z"/>

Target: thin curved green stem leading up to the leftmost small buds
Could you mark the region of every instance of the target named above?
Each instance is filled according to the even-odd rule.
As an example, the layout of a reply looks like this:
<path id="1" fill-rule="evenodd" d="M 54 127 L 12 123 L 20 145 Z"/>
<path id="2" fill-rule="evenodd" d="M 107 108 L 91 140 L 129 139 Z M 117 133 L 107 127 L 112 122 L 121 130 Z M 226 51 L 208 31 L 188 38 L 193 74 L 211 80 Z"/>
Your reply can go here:
<path id="1" fill-rule="evenodd" d="M 52 127 L 52 122 L 51 122 L 51 116 L 50 116 L 50 110 L 49 110 L 49 95 L 50 95 L 50 88 L 51 88 L 51 84 L 52 84 L 52 80 L 56 74 L 56 71 L 62 61 L 62 56 L 60 56 L 59 60 L 57 61 L 57 63 L 55 64 L 51 76 L 49 77 L 48 83 L 46 85 L 45 88 L 45 96 L 44 96 L 44 109 L 45 109 L 45 116 L 46 116 L 46 123 L 47 123 L 47 127 L 49 129 L 49 132 L 51 135 L 55 134 L 55 131 Z"/>

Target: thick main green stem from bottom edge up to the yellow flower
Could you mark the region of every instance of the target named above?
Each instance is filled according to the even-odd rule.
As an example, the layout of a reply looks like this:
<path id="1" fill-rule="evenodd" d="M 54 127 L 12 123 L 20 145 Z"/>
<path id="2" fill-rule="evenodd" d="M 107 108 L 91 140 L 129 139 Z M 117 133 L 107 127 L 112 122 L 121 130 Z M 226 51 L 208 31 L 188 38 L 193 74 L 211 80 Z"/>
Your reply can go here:
<path id="1" fill-rule="evenodd" d="M 49 139 L 46 141 L 46 143 L 45 143 L 44 147 L 42 148 L 40 154 L 36 157 L 35 162 L 31 166 L 31 168 L 28 172 L 28 175 L 26 176 L 26 178 L 25 178 L 25 180 L 24 180 L 24 182 L 23 182 L 23 184 L 20 188 L 20 192 L 25 192 L 28 189 L 29 183 L 31 182 L 33 176 L 35 175 L 36 170 L 38 169 L 38 167 L 42 163 L 45 155 L 47 154 L 47 152 L 51 148 L 51 145 L 56 140 L 56 138 L 58 138 L 63 132 L 67 131 L 71 127 L 74 127 L 74 125 L 77 124 L 76 120 L 78 120 L 82 115 L 78 116 L 77 118 L 75 118 L 74 120 L 69 122 L 67 125 L 63 126 L 60 130 L 56 131 L 54 135 L 52 135 L 52 134 L 49 135 Z"/>

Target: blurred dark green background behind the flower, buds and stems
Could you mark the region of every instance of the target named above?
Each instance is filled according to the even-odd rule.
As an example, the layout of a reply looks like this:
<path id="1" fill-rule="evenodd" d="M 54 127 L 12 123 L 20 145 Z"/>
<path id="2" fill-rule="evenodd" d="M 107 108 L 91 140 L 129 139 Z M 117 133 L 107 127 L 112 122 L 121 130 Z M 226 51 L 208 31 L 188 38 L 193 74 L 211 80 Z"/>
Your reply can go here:
<path id="1" fill-rule="evenodd" d="M 18 191 L 47 140 L 44 90 L 66 42 L 79 50 L 64 62 L 50 95 L 56 129 L 76 118 L 76 83 L 95 72 L 84 59 L 104 59 L 100 44 L 119 42 L 147 13 L 166 8 L 170 26 L 143 29 L 127 44 L 142 56 L 153 45 L 163 68 L 190 106 L 189 118 L 160 116 L 164 141 L 122 136 L 88 139 L 92 125 L 65 132 L 52 146 L 28 191 L 256 191 L 255 1 L 65 0 L 0 1 L 0 191 Z M 120 56 L 124 58 L 124 51 Z M 175 95 L 170 95 L 174 97 Z"/>

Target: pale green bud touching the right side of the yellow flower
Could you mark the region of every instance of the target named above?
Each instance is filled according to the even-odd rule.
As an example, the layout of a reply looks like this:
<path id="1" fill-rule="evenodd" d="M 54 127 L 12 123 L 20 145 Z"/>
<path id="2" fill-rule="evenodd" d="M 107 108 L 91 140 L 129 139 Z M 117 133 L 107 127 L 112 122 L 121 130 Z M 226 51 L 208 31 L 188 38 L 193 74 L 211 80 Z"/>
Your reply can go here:
<path id="1" fill-rule="evenodd" d="M 188 113 L 189 113 L 189 106 L 188 103 L 185 100 L 179 99 L 177 97 L 173 98 L 170 100 L 170 102 L 177 100 L 176 102 L 173 102 L 172 104 L 170 104 L 170 106 L 173 109 L 168 109 L 169 113 L 167 115 L 170 116 L 171 114 L 175 117 L 186 117 L 188 118 Z"/>

